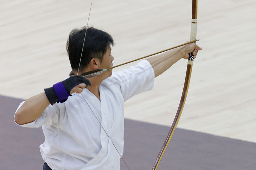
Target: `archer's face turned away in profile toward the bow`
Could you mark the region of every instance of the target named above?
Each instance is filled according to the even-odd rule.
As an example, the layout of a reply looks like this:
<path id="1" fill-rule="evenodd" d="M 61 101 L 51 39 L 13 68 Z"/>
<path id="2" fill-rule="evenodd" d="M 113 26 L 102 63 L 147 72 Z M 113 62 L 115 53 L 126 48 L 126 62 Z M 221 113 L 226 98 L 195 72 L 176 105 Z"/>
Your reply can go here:
<path id="1" fill-rule="evenodd" d="M 100 64 L 100 69 L 108 69 L 110 67 L 113 67 L 113 60 L 114 57 L 111 55 L 111 47 L 107 47 L 107 52 L 103 55 L 102 62 Z M 112 75 L 112 69 L 105 71 L 105 75 L 110 77 Z M 103 73 L 102 73 L 103 74 Z"/>

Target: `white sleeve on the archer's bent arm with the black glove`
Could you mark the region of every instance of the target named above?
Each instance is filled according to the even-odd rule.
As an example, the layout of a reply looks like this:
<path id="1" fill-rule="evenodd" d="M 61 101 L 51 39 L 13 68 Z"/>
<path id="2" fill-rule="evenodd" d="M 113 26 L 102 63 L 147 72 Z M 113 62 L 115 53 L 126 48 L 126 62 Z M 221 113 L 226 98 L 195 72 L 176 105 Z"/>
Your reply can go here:
<path id="1" fill-rule="evenodd" d="M 20 103 L 17 110 L 22 106 L 24 102 L 25 101 Z M 44 112 L 33 122 L 23 124 L 23 125 L 16 123 L 15 120 L 14 122 L 22 127 L 28 127 L 28 128 L 39 128 L 43 125 L 56 125 L 59 122 L 59 114 L 60 114 L 60 109 L 56 104 L 53 106 L 49 105 L 48 107 L 46 107 Z"/>

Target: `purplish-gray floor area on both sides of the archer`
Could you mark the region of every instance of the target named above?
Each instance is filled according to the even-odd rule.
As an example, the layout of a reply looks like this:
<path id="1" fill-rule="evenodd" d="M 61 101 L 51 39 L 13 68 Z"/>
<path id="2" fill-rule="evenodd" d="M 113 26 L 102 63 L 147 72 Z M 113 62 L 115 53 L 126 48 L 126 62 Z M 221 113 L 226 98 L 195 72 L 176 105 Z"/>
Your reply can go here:
<path id="1" fill-rule="evenodd" d="M 22 128 L 13 115 L 22 100 L 0 95 L 0 169 L 41 170 L 41 128 Z M 151 169 L 169 127 L 125 119 L 124 160 L 131 170 Z M 255 170 L 256 144 L 177 128 L 159 170 Z M 121 161 L 121 170 L 128 169 Z"/>

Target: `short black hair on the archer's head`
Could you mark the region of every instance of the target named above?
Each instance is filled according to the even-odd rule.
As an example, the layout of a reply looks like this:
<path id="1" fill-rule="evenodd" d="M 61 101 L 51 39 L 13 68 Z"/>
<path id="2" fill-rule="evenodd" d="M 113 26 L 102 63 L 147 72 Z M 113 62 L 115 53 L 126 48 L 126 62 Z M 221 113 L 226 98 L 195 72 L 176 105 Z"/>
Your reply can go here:
<path id="1" fill-rule="evenodd" d="M 80 29 L 73 29 L 69 33 L 67 52 L 73 70 L 78 70 L 83 43 L 84 50 L 79 70 L 85 69 L 92 58 L 99 58 L 100 62 L 102 62 L 103 55 L 107 52 L 107 47 L 114 45 L 111 35 L 94 27 L 87 27 L 84 41 L 85 31 L 86 26 Z"/>

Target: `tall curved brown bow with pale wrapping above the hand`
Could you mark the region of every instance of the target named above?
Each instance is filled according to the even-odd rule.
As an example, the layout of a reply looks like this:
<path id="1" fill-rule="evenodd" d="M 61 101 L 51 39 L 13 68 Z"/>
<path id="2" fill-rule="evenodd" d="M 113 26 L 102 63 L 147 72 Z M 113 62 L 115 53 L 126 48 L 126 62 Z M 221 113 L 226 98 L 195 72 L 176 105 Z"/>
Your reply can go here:
<path id="1" fill-rule="evenodd" d="M 197 0 L 192 0 L 192 20 L 191 20 L 191 33 L 190 33 L 190 41 L 196 40 L 196 24 L 197 24 Z M 188 94 L 188 87 L 189 87 L 189 82 L 190 82 L 190 77 L 191 77 L 191 72 L 192 72 L 192 65 L 193 65 L 193 61 L 194 61 L 194 55 L 192 54 L 192 52 L 189 54 L 189 58 L 188 58 L 188 65 L 187 65 L 187 72 L 186 72 L 186 77 L 185 77 L 185 83 L 183 86 L 183 91 L 182 91 L 182 95 L 181 95 L 181 99 L 180 99 L 180 105 L 178 107 L 177 113 L 175 115 L 175 118 L 172 122 L 172 126 L 170 131 L 168 132 L 168 135 L 164 141 L 164 144 L 156 158 L 155 164 L 152 168 L 152 170 L 156 170 L 160 160 L 163 157 L 163 154 L 167 148 L 167 145 L 169 144 L 172 135 L 178 125 L 178 122 L 180 120 L 180 116 L 183 110 L 183 107 L 185 105 L 185 101 L 187 98 L 187 94 Z"/>

